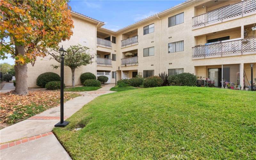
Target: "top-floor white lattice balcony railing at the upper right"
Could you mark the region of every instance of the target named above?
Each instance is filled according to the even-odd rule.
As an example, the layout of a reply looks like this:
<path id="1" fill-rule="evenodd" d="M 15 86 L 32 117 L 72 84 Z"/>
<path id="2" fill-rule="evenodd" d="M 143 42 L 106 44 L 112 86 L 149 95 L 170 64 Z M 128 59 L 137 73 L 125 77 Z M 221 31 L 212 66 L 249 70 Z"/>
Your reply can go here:
<path id="1" fill-rule="evenodd" d="M 211 25 L 211 23 L 218 23 L 228 21 L 232 17 L 243 17 L 245 14 L 256 11 L 256 0 L 245 0 L 236 4 L 228 5 L 196 17 L 193 17 L 193 28 L 205 27 Z M 239 18 L 238 17 L 238 18 Z"/>

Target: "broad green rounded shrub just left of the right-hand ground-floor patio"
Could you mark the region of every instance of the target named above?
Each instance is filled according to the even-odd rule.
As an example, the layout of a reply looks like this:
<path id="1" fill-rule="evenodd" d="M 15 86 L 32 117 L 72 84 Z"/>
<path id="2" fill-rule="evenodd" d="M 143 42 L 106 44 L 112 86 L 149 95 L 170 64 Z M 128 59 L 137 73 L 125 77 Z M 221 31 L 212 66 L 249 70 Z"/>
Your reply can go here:
<path id="1" fill-rule="evenodd" d="M 196 86 L 197 77 L 191 73 L 181 73 L 168 77 L 170 85 Z"/>

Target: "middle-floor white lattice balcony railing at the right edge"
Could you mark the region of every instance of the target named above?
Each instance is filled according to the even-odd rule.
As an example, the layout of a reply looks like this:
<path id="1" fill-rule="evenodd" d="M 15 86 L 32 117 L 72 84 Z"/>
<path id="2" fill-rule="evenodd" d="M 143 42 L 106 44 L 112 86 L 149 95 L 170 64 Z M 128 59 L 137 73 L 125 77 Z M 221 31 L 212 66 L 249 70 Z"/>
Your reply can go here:
<path id="1" fill-rule="evenodd" d="M 256 37 L 193 47 L 193 59 L 256 54 Z"/>

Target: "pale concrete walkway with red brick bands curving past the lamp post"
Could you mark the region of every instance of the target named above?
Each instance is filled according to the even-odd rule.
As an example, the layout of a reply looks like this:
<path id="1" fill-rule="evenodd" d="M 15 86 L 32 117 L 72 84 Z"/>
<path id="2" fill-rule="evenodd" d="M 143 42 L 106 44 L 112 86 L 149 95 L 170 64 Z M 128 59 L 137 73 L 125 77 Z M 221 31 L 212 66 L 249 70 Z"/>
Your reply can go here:
<path id="1" fill-rule="evenodd" d="M 94 98 L 112 93 L 109 89 L 114 86 L 115 84 L 107 84 L 97 91 L 80 92 L 82 96 L 64 103 L 64 119 L 72 116 Z M 53 134 L 43 137 L 50 133 L 59 121 L 60 106 L 0 130 L 0 158 L 71 159 Z"/>

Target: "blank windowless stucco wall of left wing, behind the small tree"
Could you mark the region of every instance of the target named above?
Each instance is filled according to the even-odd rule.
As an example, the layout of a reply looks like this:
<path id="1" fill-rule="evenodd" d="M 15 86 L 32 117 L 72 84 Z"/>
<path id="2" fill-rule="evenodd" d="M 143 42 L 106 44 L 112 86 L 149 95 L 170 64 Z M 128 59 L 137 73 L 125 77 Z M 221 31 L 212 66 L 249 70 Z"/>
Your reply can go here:
<path id="1" fill-rule="evenodd" d="M 73 36 L 71 36 L 69 41 L 61 42 L 64 48 L 68 48 L 70 45 L 81 44 L 90 48 L 90 54 L 96 57 L 96 26 L 92 23 L 80 20 L 76 17 L 72 17 L 74 21 Z M 86 28 L 86 29 L 85 29 Z M 28 87 L 38 87 L 36 85 L 37 77 L 45 72 L 54 72 L 60 75 L 60 68 L 52 69 L 51 65 L 59 65 L 55 60 L 49 60 L 46 58 L 37 57 L 34 67 L 28 64 Z M 96 62 L 93 59 L 93 63 L 87 66 L 76 69 L 75 71 L 75 85 L 80 85 L 80 75 L 84 72 L 91 72 L 96 74 Z M 72 85 L 71 79 L 71 69 L 69 67 L 64 68 L 64 83 Z"/>

